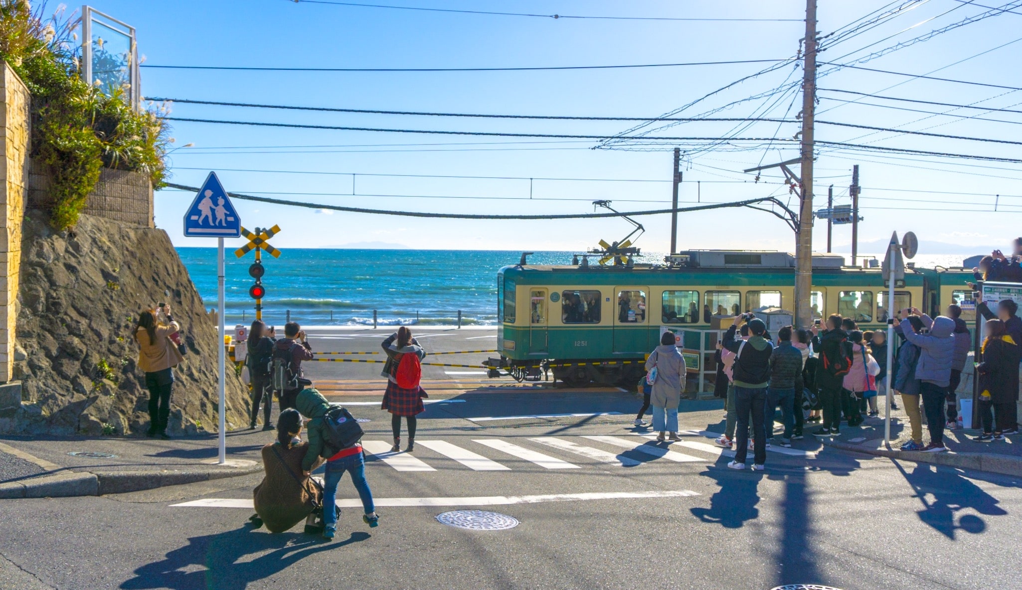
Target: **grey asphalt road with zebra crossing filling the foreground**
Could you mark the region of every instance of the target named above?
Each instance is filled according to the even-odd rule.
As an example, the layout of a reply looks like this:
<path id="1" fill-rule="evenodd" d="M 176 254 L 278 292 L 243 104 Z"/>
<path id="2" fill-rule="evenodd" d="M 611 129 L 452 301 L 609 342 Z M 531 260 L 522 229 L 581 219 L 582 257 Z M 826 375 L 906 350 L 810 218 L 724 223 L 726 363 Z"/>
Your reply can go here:
<path id="1" fill-rule="evenodd" d="M 753 474 L 727 469 L 728 457 L 702 446 L 711 441 L 697 433 L 670 445 L 677 456 L 657 456 L 665 445 L 618 446 L 648 442 L 624 415 L 487 423 L 440 413 L 544 414 L 585 405 L 585 394 L 514 395 L 519 401 L 511 404 L 500 392 L 433 404 L 411 458 L 369 457 L 380 526 L 369 529 L 361 509 L 344 508 L 332 542 L 301 534 L 300 526 L 280 535 L 253 531 L 248 507 L 173 505 L 243 505 L 259 476 L 98 498 L 4 500 L 0 588 L 1018 586 L 1018 481 L 821 450 L 811 441 L 800 441 L 802 456 L 772 451 L 768 471 Z M 635 405 L 607 392 L 593 407 L 614 395 L 621 407 Z M 367 397 L 346 398 L 359 399 Z M 373 421 L 365 440 L 385 445 L 386 414 L 353 407 Z M 694 415 L 683 416 L 686 427 L 705 428 Z M 521 458 L 507 451 L 514 447 L 561 462 Z M 489 461 L 448 456 L 464 451 Z M 413 460 L 430 471 L 397 469 Z M 574 466 L 549 469 L 562 462 Z M 346 480 L 338 495 L 357 497 Z M 444 505 L 409 505 L 424 501 Z M 459 508 L 520 524 L 468 531 L 435 520 Z"/>

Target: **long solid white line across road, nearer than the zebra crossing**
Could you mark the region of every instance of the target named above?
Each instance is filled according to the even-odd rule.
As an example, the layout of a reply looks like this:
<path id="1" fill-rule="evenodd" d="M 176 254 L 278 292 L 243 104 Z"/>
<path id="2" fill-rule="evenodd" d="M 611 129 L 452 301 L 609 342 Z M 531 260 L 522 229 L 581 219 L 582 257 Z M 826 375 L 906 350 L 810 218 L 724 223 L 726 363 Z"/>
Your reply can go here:
<path id="1" fill-rule="evenodd" d="M 467 496 L 456 498 L 374 498 L 373 503 L 384 507 L 408 506 L 499 506 L 507 504 L 537 504 L 540 502 L 567 502 L 577 500 L 626 500 L 641 498 L 683 498 L 698 496 L 699 492 L 692 490 L 653 490 L 649 492 L 584 492 L 579 494 L 542 494 L 533 496 Z M 172 507 L 204 507 L 204 508 L 249 508 L 252 501 L 247 498 L 203 498 Z M 337 506 L 341 508 L 361 508 L 362 500 L 358 498 L 337 498 Z"/>

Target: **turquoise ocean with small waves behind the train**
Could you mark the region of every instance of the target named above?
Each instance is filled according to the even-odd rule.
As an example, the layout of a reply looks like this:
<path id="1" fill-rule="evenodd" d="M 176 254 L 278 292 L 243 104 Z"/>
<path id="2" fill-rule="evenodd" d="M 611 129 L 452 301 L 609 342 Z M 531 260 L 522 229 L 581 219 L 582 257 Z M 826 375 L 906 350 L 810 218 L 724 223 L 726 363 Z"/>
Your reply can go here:
<path id="1" fill-rule="evenodd" d="M 217 249 L 178 248 L 205 306 L 217 306 Z M 537 252 L 533 264 L 565 264 L 573 252 Z M 418 324 L 451 326 L 462 312 L 462 324 L 497 322 L 497 271 L 515 264 L 519 251 L 474 250 L 356 250 L 288 248 L 280 258 L 263 256 L 263 317 L 283 324 L 290 317 L 308 326 L 372 326 L 376 310 L 380 326 Z M 917 256 L 919 266 L 962 263 L 961 255 Z M 641 261 L 659 262 L 662 252 L 650 252 Z M 226 253 L 227 324 L 254 317 L 252 284 L 243 258 Z"/>

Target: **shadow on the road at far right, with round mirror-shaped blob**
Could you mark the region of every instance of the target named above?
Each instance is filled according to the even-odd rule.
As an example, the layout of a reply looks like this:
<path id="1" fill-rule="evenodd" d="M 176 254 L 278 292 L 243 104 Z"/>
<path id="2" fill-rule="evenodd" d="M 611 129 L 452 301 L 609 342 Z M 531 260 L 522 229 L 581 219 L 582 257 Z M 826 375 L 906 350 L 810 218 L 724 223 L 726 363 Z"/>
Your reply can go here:
<path id="1" fill-rule="evenodd" d="M 962 477 L 962 474 L 954 468 L 918 463 L 912 473 L 909 473 L 899 461 L 891 462 L 916 490 L 916 497 L 923 503 L 923 509 L 916 512 L 919 514 L 919 520 L 948 539 L 954 539 L 959 530 L 973 535 L 986 530 L 986 522 L 975 514 L 962 514 L 956 523 L 956 513 L 961 510 L 972 508 L 988 517 L 1008 514 L 1008 510 L 997 505 L 1000 500 Z M 933 498 L 932 501 L 928 499 L 929 497 Z"/>

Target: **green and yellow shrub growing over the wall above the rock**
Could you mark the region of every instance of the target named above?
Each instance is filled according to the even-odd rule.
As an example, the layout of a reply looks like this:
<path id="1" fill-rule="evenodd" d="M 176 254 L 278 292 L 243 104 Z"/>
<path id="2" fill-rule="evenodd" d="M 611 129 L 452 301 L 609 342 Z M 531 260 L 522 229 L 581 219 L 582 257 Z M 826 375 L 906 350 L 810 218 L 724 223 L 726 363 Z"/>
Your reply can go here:
<path id="1" fill-rule="evenodd" d="M 79 20 L 44 10 L 0 0 L 0 57 L 32 94 L 32 154 L 52 169 L 50 219 L 63 230 L 78 222 L 103 166 L 145 173 L 161 186 L 169 140 L 164 118 L 133 108 L 124 88 L 82 80 Z"/>

